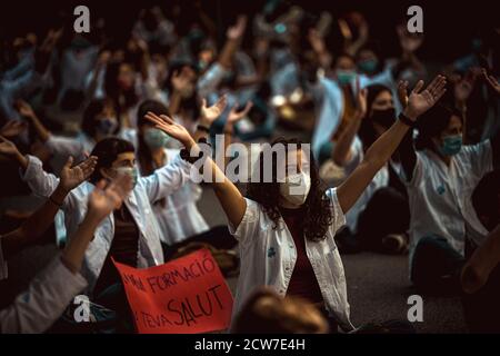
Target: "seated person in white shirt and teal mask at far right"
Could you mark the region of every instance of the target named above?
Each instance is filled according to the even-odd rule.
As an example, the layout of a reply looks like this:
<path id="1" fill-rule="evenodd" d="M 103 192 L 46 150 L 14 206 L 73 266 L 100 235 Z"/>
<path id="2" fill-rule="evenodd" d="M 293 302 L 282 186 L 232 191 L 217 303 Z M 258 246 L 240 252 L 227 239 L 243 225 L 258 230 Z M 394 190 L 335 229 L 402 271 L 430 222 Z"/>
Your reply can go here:
<path id="1" fill-rule="evenodd" d="M 404 83 L 401 83 L 404 86 Z M 479 180 L 500 165 L 500 135 L 462 145 L 462 115 L 441 103 L 426 112 L 400 146 L 402 178 L 410 200 L 410 278 L 427 293 L 457 293 L 466 238 L 487 230 L 473 214 Z"/>

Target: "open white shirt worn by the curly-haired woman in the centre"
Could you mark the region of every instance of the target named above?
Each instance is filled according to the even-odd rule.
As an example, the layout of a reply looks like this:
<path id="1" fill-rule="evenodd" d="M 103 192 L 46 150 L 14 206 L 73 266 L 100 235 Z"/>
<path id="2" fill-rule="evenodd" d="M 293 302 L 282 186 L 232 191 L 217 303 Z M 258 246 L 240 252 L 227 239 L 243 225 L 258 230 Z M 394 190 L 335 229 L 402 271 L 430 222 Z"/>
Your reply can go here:
<path id="1" fill-rule="evenodd" d="M 333 236 L 346 224 L 342 209 L 337 199 L 336 189 L 329 189 L 332 222 L 324 240 L 306 240 L 306 250 L 321 289 L 326 307 L 342 328 L 353 328 L 349 317 L 346 276 Z M 247 210 L 240 225 L 229 224 L 231 234 L 240 243 L 241 268 L 234 296 L 232 315 L 240 312 L 254 288 L 269 286 L 280 296 L 287 295 L 292 271 L 297 261 L 293 237 L 284 221 L 280 219 L 277 229 L 274 222 L 258 202 L 247 200 Z"/>

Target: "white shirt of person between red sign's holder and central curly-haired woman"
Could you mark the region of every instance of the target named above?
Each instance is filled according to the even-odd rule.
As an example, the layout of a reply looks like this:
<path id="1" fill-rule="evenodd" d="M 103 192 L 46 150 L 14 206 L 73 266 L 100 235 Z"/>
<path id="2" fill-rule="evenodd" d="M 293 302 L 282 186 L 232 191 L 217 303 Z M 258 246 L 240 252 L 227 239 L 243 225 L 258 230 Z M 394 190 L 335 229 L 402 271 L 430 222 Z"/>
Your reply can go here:
<path id="1" fill-rule="evenodd" d="M 164 154 L 168 164 L 179 155 L 179 150 L 166 149 Z M 201 187 L 190 181 L 164 200 L 152 204 L 153 215 L 163 233 L 163 243 L 173 245 L 209 230 L 197 207 L 201 192 Z"/>

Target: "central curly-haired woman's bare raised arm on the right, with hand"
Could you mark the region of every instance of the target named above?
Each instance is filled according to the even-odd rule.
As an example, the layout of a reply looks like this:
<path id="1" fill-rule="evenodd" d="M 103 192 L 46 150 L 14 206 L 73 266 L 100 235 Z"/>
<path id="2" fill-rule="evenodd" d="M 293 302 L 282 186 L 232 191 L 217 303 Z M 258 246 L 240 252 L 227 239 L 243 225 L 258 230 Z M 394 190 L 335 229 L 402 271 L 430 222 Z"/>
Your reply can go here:
<path id="1" fill-rule="evenodd" d="M 419 81 L 408 99 L 408 106 L 403 111 L 407 120 L 414 122 L 417 118 L 429 110 L 446 89 L 446 78 L 438 76 L 421 91 L 423 81 Z M 356 168 L 346 181 L 338 188 L 339 202 L 346 214 L 358 200 L 374 175 L 390 159 L 399 144 L 407 135 L 410 126 L 397 120 L 367 151 L 363 161 Z"/>

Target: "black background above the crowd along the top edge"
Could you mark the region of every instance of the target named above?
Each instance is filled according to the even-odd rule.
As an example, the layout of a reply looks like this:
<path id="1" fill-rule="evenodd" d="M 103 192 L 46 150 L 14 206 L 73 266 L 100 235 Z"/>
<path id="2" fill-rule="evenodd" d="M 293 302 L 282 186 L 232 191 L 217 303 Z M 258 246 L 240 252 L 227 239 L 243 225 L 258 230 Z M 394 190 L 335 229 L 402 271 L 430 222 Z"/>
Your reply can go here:
<path id="1" fill-rule="evenodd" d="M 202 7 L 219 26 L 222 36 L 224 28 L 234 21 L 238 13 L 252 14 L 262 9 L 264 0 L 203 0 Z M 307 0 L 287 1 L 290 4 L 302 7 L 312 22 L 322 10 L 329 10 L 333 17 L 339 17 L 350 10 L 361 11 L 370 23 L 370 34 L 383 44 L 386 55 L 396 55 L 398 49 L 394 26 L 401 19 L 407 19 L 407 9 L 411 4 L 419 4 L 423 9 L 423 26 L 426 41 L 419 51 L 423 60 L 438 60 L 448 62 L 468 52 L 470 41 L 478 31 L 493 29 L 500 26 L 498 2 L 494 1 L 318 1 Z M 180 3 L 182 18 L 178 19 L 178 28 L 182 31 L 190 22 L 196 11 L 193 1 L 163 0 L 163 1 L 27 1 L 3 0 L 0 3 L 0 36 L 10 38 L 22 32 L 36 31 L 41 34 L 50 26 L 61 22 L 61 13 L 70 14 L 72 21 L 76 17 L 72 11 L 78 4 L 90 8 L 91 21 L 104 18 L 107 29 L 112 36 L 121 37 L 130 33 L 140 9 L 159 4 L 167 13 L 173 4 Z M 71 23 L 70 21 L 70 23 Z M 72 24 L 71 24 L 72 27 Z"/>

